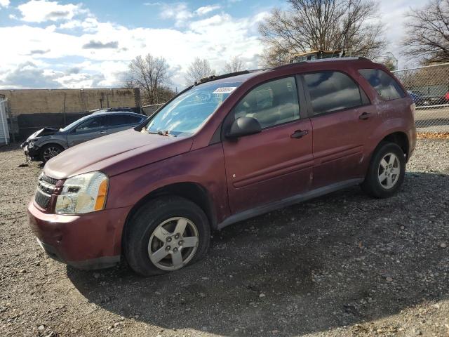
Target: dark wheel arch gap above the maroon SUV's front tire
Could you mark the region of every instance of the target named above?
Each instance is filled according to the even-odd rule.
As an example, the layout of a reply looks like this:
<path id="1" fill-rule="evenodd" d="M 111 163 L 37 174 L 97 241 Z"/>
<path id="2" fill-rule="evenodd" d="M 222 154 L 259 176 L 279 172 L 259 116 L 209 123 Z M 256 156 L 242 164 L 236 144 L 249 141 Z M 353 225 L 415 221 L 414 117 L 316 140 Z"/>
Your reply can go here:
<path id="1" fill-rule="evenodd" d="M 128 223 L 133 215 L 148 201 L 166 195 L 175 195 L 177 197 L 183 197 L 189 201 L 194 202 L 206 214 L 211 230 L 217 229 L 217 216 L 215 214 L 213 199 L 212 197 L 210 197 L 210 193 L 208 192 L 208 190 L 206 190 L 206 188 L 199 183 L 173 183 L 170 185 L 159 187 L 156 190 L 149 192 L 147 195 L 145 195 L 145 197 L 142 197 L 142 199 L 140 199 L 132 209 L 130 209 L 128 216 L 126 217 L 125 224 L 123 225 L 121 236 L 122 246 L 123 238 L 126 236 L 126 228 L 128 227 Z"/>

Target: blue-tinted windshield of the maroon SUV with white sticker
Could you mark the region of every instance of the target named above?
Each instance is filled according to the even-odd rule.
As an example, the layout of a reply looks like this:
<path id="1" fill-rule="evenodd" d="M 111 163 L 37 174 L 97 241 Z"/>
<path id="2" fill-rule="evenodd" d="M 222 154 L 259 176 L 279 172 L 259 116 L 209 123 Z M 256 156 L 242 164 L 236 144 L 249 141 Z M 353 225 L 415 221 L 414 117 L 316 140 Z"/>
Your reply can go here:
<path id="1" fill-rule="evenodd" d="M 241 83 L 210 82 L 194 86 L 157 112 L 142 132 L 191 136 Z"/>

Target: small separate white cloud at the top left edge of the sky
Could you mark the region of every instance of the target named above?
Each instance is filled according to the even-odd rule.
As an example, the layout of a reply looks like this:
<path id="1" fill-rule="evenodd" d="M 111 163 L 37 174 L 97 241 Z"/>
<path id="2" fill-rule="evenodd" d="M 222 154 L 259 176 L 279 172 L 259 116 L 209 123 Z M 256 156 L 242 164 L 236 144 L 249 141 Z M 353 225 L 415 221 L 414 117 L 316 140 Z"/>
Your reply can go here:
<path id="1" fill-rule="evenodd" d="M 76 15 L 88 13 L 81 4 L 61 5 L 58 1 L 48 0 L 31 0 L 19 5 L 18 10 L 22 14 L 20 19 L 27 22 L 72 20 Z"/>

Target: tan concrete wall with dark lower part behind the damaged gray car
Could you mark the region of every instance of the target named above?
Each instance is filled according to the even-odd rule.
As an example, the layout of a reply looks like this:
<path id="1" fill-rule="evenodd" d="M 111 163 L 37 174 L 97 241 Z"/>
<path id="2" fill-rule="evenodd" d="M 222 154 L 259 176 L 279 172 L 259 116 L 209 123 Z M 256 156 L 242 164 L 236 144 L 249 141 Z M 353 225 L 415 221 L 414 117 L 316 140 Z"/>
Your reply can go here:
<path id="1" fill-rule="evenodd" d="M 27 138 L 44 126 L 60 128 L 107 107 L 140 108 L 138 88 L 0 90 L 8 99 L 10 133 L 14 140 Z"/>

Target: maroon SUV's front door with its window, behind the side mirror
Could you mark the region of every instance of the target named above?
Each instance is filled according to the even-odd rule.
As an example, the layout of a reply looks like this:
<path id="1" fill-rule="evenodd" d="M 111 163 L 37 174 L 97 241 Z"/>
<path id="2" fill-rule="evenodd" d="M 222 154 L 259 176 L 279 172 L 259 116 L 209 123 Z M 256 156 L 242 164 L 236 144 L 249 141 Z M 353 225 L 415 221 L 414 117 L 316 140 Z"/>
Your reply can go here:
<path id="1" fill-rule="evenodd" d="M 286 77 L 253 88 L 230 112 L 227 121 L 253 117 L 262 126 L 261 133 L 223 141 L 232 213 L 309 190 L 312 129 L 300 116 L 302 103 L 295 77 Z"/>

